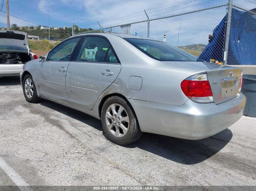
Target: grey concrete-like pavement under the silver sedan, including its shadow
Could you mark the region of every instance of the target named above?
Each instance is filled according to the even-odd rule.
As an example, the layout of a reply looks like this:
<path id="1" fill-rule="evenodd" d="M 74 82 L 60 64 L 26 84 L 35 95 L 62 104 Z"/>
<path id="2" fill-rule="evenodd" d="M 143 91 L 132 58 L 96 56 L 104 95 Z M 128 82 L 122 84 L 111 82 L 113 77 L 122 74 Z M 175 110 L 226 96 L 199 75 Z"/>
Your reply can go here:
<path id="1" fill-rule="evenodd" d="M 0 108 L 0 185 L 256 185 L 256 118 L 202 140 L 144 133 L 120 146 L 98 119 L 26 102 L 18 77 L 0 78 Z"/>

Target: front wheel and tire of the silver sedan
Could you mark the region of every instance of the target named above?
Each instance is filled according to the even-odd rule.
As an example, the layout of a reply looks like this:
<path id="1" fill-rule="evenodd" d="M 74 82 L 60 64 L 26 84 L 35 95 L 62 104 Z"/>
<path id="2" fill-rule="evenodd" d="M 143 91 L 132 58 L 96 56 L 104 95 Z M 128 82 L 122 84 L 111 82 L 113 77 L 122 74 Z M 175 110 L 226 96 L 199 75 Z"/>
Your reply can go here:
<path id="1" fill-rule="evenodd" d="M 37 96 L 35 83 L 31 75 L 25 75 L 22 83 L 23 94 L 27 102 L 35 103 L 41 100 Z"/>

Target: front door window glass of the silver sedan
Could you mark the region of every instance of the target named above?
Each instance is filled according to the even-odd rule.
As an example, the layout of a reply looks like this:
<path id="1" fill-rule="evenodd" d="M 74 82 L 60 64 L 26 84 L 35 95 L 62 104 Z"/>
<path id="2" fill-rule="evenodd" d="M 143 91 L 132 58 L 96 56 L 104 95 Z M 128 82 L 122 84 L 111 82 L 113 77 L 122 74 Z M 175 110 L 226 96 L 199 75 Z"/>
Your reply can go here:
<path id="1" fill-rule="evenodd" d="M 79 40 L 80 37 L 73 38 L 60 44 L 48 54 L 47 60 L 71 61 L 71 54 Z"/>

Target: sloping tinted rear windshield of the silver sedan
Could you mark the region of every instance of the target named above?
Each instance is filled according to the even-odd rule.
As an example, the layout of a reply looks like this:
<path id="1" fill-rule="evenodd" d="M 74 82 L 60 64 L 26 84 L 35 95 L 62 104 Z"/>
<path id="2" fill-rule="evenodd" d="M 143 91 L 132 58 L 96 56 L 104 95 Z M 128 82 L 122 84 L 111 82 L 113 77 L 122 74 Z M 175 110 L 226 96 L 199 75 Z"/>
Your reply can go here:
<path id="1" fill-rule="evenodd" d="M 141 52 L 156 60 L 203 62 L 192 54 L 161 41 L 135 38 L 125 38 L 125 40 L 138 48 Z"/>

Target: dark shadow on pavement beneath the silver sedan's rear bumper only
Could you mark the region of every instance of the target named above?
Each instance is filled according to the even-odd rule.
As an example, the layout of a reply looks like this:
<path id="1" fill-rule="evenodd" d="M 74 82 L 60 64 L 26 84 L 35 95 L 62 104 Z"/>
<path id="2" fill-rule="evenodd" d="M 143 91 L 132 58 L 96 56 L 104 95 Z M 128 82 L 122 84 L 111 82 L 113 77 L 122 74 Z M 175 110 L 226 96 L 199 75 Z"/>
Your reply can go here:
<path id="1" fill-rule="evenodd" d="M 201 140 L 185 140 L 143 133 L 138 141 L 124 147 L 138 147 L 168 160 L 191 165 L 205 161 L 218 153 L 228 144 L 232 136 L 230 129 L 225 129 L 216 135 Z"/>

